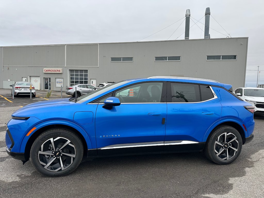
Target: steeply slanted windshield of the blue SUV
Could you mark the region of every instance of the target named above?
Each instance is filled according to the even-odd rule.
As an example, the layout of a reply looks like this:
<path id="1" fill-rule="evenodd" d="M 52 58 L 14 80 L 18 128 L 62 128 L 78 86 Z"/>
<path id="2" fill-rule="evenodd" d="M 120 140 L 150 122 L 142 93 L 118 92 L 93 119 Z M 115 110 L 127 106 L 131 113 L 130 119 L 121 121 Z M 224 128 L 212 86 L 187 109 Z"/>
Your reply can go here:
<path id="1" fill-rule="evenodd" d="M 84 96 L 81 96 L 81 97 L 77 98 L 76 102 L 77 102 L 77 103 L 82 103 L 82 102 L 84 102 L 84 101 L 87 101 L 87 100 L 89 100 L 89 99 L 91 99 L 91 98 L 93 98 L 93 97 L 99 96 L 99 95 L 102 94 L 102 93 L 105 93 L 105 92 L 107 92 L 107 91 L 109 91 L 109 90 L 111 90 L 111 89 L 114 89 L 114 88 L 116 88 L 116 87 L 118 87 L 118 86 L 120 86 L 120 85 L 126 84 L 126 83 L 128 83 L 128 82 L 129 82 L 129 81 L 116 82 L 116 83 L 111 84 L 111 85 L 109 85 L 109 86 L 105 86 L 105 87 L 103 87 L 103 88 L 101 88 L 101 89 L 97 89 L 97 90 L 95 90 L 95 91 L 93 91 L 93 92 L 91 92 L 91 93 L 88 93 L 88 94 L 86 94 L 86 95 L 84 95 Z M 95 98 L 95 99 L 96 99 L 96 98 Z"/>

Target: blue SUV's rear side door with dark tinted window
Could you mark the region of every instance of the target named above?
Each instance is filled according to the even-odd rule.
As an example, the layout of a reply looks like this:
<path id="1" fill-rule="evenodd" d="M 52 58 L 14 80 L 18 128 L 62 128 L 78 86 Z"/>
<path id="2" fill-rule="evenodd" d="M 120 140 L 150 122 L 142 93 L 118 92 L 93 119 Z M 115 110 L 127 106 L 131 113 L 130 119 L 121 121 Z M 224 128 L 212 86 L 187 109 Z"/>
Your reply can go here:
<path id="1" fill-rule="evenodd" d="M 220 119 L 222 105 L 208 85 L 168 83 L 164 151 L 201 150 L 206 131 Z"/>

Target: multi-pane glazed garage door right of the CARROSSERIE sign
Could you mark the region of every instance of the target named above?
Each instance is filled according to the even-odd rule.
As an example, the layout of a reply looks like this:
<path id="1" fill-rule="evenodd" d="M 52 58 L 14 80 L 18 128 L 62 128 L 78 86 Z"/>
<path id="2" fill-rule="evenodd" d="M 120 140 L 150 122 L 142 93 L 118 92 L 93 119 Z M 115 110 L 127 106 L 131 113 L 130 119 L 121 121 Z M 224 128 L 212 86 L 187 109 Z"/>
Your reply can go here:
<path id="1" fill-rule="evenodd" d="M 88 84 L 88 69 L 70 69 L 70 86 Z"/>

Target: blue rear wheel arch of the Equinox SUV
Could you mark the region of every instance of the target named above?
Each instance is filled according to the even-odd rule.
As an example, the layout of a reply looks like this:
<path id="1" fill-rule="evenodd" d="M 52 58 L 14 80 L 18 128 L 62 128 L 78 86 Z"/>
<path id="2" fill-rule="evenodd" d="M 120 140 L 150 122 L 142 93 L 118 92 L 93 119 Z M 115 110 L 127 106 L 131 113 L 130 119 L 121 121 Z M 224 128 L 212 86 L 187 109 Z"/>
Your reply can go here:
<path id="1" fill-rule="evenodd" d="M 241 122 L 240 120 L 234 119 L 234 120 L 220 120 L 219 123 L 217 125 L 212 125 L 210 130 L 208 130 L 204 136 L 203 142 L 207 142 L 208 137 L 211 135 L 211 133 L 216 129 L 219 128 L 221 126 L 232 126 L 233 128 L 235 128 L 239 134 L 241 135 L 242 138 L 242 144 L 244 144 L 246 142 L 246 138 L 245 138 L 245 133 L 247 133 L 247 131 L 244 129 L 243 127 L 243 122 Z"/>

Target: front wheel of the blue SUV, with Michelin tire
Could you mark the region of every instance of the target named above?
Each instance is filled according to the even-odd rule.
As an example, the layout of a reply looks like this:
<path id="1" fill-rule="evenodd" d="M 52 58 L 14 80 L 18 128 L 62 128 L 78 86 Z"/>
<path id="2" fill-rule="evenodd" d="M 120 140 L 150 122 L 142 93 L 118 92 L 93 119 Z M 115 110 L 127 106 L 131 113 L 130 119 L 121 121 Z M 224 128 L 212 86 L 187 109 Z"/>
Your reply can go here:
<path id="1" fill-rule="evenodd" d="M 72 131 L 62 128 L 50 129 L 39 135 L 30 150 L 30 160 L 34 168 L 49 177 L 70 174 L 79 166 L 82 158 L 81 139 Z"/>

